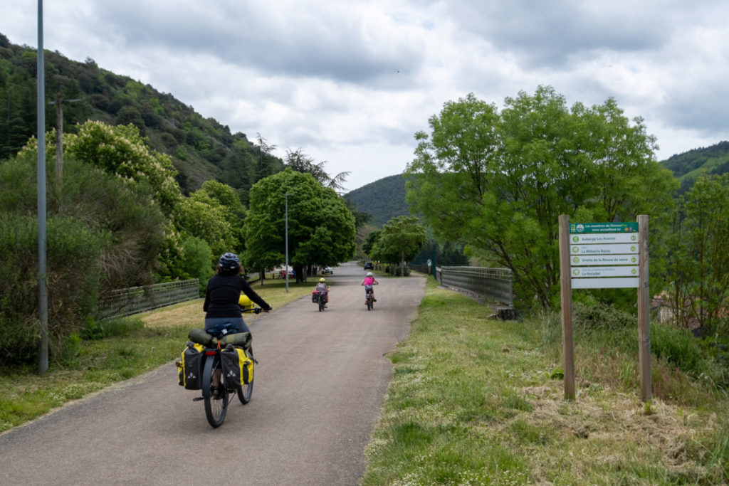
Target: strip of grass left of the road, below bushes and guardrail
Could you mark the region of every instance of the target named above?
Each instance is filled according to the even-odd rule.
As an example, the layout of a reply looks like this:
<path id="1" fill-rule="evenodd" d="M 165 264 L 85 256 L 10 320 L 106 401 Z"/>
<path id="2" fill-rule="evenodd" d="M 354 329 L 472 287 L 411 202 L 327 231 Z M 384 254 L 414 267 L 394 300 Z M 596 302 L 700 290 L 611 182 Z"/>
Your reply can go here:
<path id="1" fill-rule="evenodd" d="M 310 294 L 314 283 L 265 281 L 255 290 L 274 308 Z M 184 302 L 131 318 L 95 325 L 95 337 L 69 338 L 63 356 L 54 356 L 43 376 L 36 369 L 0 371 L 0 433 L 52 409 L 177 358 L 192 327 L 203 327 L 203 300 Z M 252 322 L 256 315 L 246 315 Z M 83 334 L 83 333 L 81 333 Z"/>

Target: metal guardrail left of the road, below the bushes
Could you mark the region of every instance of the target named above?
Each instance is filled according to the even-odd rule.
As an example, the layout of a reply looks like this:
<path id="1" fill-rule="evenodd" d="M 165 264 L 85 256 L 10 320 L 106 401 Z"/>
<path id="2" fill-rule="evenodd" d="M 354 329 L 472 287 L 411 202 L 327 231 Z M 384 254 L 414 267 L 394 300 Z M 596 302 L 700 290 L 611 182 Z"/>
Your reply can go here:
<path id="1" fill-rule="evenodd" d="M 114 290 L 101 299 L 96 317 L 123 317 L 200 297 L 197 278 Z"/>

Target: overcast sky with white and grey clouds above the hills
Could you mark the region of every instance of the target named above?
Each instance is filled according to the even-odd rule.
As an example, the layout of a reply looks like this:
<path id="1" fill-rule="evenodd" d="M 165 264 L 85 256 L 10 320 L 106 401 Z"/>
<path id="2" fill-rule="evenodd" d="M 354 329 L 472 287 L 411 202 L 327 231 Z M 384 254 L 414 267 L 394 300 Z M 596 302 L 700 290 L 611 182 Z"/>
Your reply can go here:
<path id="1" fill-rule="evenodd" d="M 0 33 L 37 47 L 37 5 L 3 0 Z M 658 160 L 729 140 L 724 0 L 45 1 L 44 47 L 350 171 L 347 189 L 401 173 L 414 133 L 468 93 L 612 96 Z"/>

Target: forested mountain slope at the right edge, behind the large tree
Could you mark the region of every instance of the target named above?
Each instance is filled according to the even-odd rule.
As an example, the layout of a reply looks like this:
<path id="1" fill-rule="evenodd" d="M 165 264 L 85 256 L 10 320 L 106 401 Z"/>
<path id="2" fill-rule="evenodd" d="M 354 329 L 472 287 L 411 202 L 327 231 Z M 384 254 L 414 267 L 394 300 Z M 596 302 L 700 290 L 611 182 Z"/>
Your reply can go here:
<path id="1" fill-rule="evenodd" d="M 681 181 L 679 190 L 684 193 L 701 173 L 718 175 L 729 172 L 729 141 L 689 150 L 661 163 L 671 169 L 674 176 Z"/>

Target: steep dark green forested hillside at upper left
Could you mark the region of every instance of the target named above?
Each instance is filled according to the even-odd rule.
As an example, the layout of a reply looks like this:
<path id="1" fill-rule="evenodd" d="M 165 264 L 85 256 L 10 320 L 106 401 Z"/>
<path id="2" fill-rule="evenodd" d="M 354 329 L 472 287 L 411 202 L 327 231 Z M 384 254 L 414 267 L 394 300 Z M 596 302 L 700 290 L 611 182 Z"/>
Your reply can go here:
<path id="1" fill-rule="evenodd" d="M 36 133 L 36 59 L 28 46 L 11 44 L 0 34 L 0 159 L 12 157 Z M 149 146 L 172 157 L 182 192 L 216 179 L 236 189 L 247 201 L 248 189 L 262 177 L 283 169 L 283 161 L 254 145 L 244 133 L 204 118 L 168 93 L 119 76 L 87 58 L 69 60 L 61 52 L 44 54 L 47 97 L 46 130 L 56 126 L 63 103 L 63 131 L 73 133 L 87 119 L 110 125 L 136 125 Z"/>

